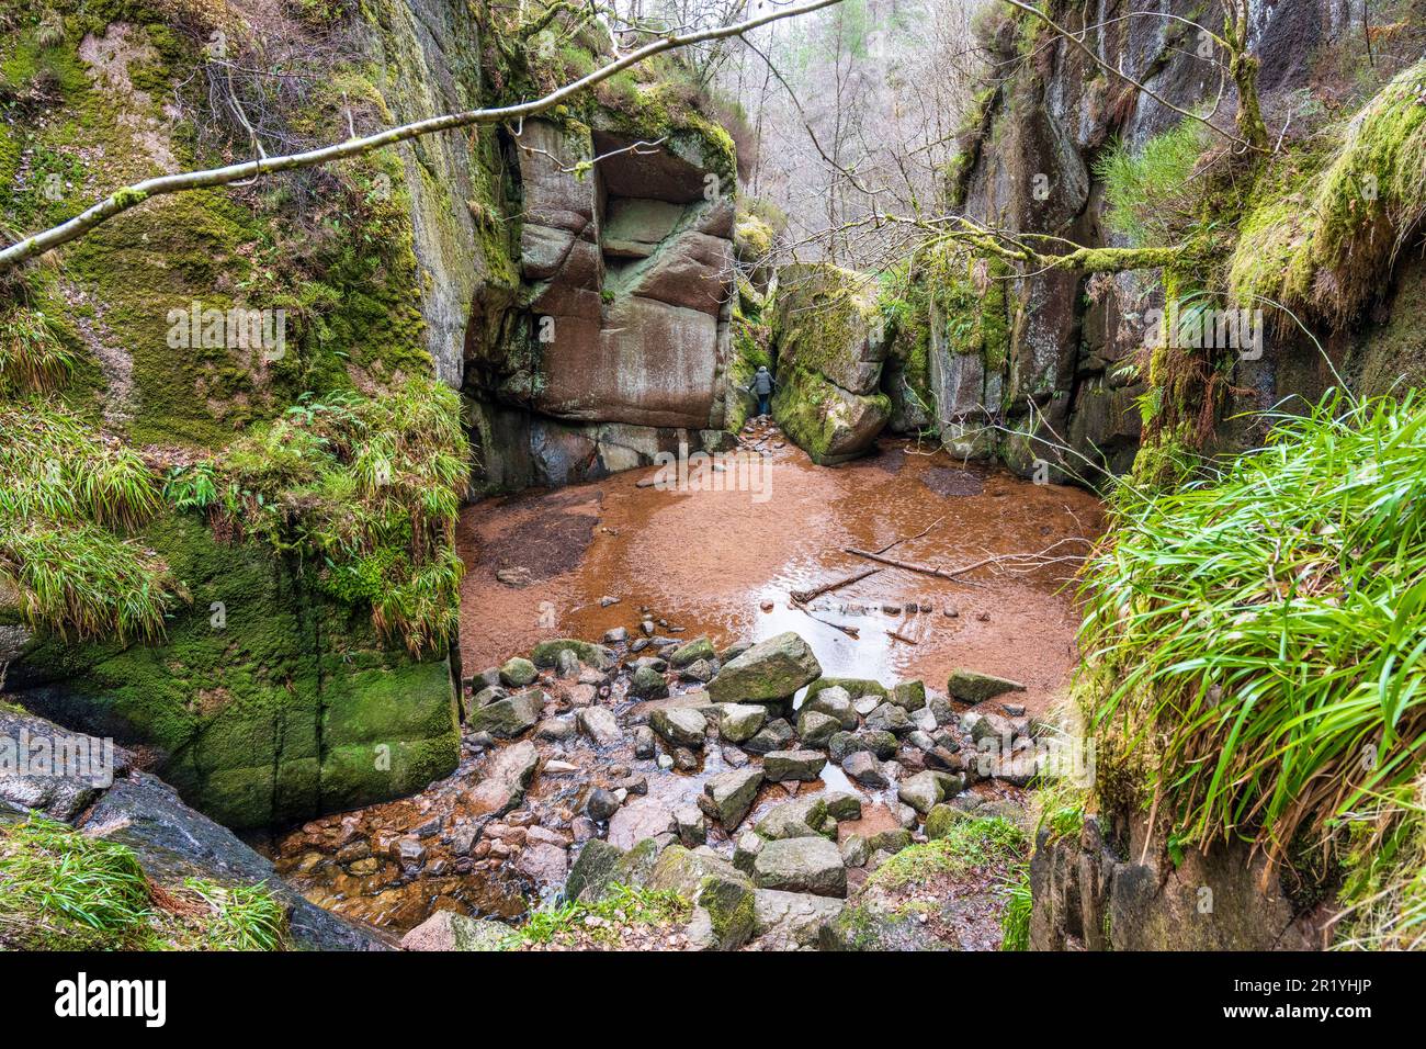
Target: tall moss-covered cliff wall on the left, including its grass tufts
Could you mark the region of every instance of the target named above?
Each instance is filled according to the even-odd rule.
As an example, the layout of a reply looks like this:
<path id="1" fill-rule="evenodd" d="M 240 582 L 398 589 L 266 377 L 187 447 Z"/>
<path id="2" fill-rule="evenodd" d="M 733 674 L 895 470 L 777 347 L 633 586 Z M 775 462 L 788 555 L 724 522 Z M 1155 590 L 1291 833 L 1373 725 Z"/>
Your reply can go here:
<path id="1" fill-rule="evenodd" d="M 325 9 L 267 24 L 244 20 L 241 0 L 51 7 L 0 20 L 0 221 L 26 231 L 116 187 L 251 150 L 208 110 L 204 47 L 217 30 L 240 51 L 258 34 L 267 47 L 311 44 L 302 60 L 321 76 L 265 108 L 288 144 L 434 116 L 479 88 L 475 29 L 415 0 L 364 4 L 342 57 L 315 46 L 341 17 Z M 482 268 L 471 247 L 468 201 L 496 193 L 481 174 L 488 156 L 479 140 L 469 153 L 426 141 L 155 198 L 0 291 L 4 343 L 39 318 L 68 361 L 63 375 L 31 375 L 29 391 L 7 374 L 0 397 L 30 398 L 46 427 L 64 405 L 90 451 L 141 450 L 145 484 L 163 492 L 123 520 L 41 524 L 53 542 L 131 554 L 167 611 L 123 641 L 101 614 L 81 632 L 31 621 L 7 685 L 68 724 L 153 748 L 158 771 L 230 825 L 392 798 L 455 768 L 445 639 L 465 450 L 456 397 L 421 384 L 459 384 L 471 295 L 481 277 L 496 283 L 499 253 Z M 235 308 L 255 311 L 261 338 L 211 323 Z M 398 418 L 408 397 L 426 411 Z M 368 425 L 376 415 L 385 422 Z M 341 447 L 318 432 L 327 424 L 362 435 Z M 411 441 L 439 481 L 404 451 Z M 434 484 L 408 484 L 424 474 Z M 16 554 L 0 551 L 0 577 Z M 67 585 L 96 582 L 58 568 Z"/>

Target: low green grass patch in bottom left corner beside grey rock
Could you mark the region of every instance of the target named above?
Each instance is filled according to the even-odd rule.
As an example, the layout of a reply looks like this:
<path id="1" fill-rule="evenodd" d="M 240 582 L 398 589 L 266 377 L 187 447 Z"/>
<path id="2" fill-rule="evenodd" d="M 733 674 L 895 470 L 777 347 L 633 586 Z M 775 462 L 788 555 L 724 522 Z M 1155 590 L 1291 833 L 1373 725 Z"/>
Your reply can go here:
<path id="1" fill-rule="evenodd" d="M 133 849 L 31 815 L 0 824 L 0 948 L 278 951 L 287 909 L 265 885 L 158 886 Z"/>

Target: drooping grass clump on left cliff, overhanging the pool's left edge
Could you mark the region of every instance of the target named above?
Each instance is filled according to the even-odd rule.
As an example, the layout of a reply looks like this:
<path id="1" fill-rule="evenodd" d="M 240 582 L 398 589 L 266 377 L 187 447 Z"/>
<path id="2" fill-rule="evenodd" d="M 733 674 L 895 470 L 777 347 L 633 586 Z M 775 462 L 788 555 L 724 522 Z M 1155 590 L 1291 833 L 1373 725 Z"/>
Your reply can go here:
<path id="1" fill-rule="evenodd" d="M 304 559 L 318 587 L 366 604 L 412 654 L 459 618 L 455 522 L 468 484 L 458 395 L 434 378 L 304 395 L 221 460 L 171 471 L 174 505 Z"/>

